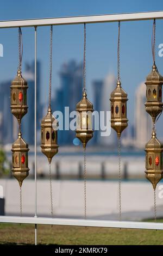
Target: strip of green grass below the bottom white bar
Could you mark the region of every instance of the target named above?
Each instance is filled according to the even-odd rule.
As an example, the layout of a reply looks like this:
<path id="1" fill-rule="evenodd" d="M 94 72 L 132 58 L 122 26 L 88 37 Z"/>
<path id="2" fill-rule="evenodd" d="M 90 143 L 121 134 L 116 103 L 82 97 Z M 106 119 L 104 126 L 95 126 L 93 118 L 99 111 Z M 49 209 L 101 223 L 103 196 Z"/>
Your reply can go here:
<path id="1" fill-rule="evenodd" d="M 41 245 L 163 245 L 162 237 L 161 230 L 37 225 Z M 34 244 L 34 225 L 0 224 L 0 245 L 5 244 Z"/>

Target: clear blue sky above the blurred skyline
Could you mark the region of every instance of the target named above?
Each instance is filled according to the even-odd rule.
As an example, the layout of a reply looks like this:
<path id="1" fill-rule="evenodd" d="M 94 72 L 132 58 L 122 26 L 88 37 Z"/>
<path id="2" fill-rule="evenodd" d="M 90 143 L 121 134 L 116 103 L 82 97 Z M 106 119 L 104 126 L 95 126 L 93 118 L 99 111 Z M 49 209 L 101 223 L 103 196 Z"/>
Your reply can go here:
<path id="1" fill-rule="evenodd" d="M 108 0 L 6 0 L 1 1 L 1 20 L 95 14 L 131 13 L 162 10 L 162 1 L 108 1 Z M 163 57 L 158 57 L 158 45 L 163 43 L 163 20 L 156 21 L 156 64 L 163 74 Z M 42 101 L 47 100 L 49 66 L 49 27 L 38 32 L 38 59 L 42 63 Z M 34 58 L 34 28 L 23 28 L 23 63 Z M 121 24 L 121 79 L 129 101 L 128 118 L 134 121 L 134 94 L 152 66 L 152 21 L 132 21 Z M 86 26 L 86 81 L 91 98 L 91 82 L 112 72 L 117 74 L 117 23 Z M 17 29 L 1 29 L 0 43 L 4 57 L 0 58 L 0 82 L 11 79 L 17 70 Z M 56 26 L 53 33 L 53 93 L 59 86 L 60 65 L 70 59 L 83 59 L 83 25 Z M 109 95 L 108 95 L 109 105 Z M 160 118 L 162 119 L 162 117 Z M 159 121 L 160 122 L 160 121 Z M 162 120 L 161 120 L 162 122 Z"/>

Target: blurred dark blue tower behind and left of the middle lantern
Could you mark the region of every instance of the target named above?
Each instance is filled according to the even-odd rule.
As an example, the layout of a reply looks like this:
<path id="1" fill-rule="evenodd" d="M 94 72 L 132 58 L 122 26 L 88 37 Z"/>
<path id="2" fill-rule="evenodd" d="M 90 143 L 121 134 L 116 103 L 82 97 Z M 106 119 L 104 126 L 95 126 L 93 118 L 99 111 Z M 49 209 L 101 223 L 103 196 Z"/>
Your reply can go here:
<path id="1" fill-rule="evenodd" d="M 59 75 L 60 88 L 56 91 L 52 107 L 55 111 L 61 111 L 63 114 L 65 113 L 65 107 L 69 107 L 70 112 L 75 111 L 76 104 L 82 97 L 83 65 L 71 60 L 61 66 Z M 58 131 L 58 143 L 60 145 L 72 144 L 74 137 L 74 131 Z"/>

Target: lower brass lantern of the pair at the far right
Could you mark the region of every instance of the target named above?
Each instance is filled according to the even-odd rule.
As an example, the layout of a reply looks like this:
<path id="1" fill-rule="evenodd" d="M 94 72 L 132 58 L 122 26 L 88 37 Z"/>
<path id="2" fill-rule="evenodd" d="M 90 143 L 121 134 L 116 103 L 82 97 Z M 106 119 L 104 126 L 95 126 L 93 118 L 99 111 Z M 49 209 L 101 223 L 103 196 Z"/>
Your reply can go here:
<path id="1" fill-rule="evenodd" d="M 156 138 L 155 130 L 152 138 L 146 144 L 146 178 L 151 181 L 155 190 L 158 182 L 163 178 L 162 152 L 163 144 Z"/>

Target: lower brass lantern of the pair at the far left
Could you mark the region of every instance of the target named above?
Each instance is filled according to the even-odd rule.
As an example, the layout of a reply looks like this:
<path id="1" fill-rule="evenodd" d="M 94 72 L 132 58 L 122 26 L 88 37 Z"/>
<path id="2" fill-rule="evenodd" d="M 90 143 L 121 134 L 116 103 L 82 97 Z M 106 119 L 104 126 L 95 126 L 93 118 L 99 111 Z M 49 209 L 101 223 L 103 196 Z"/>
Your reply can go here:
<path id="1" fill-rule="evenodd" d="M 23 180 L 29 174 L 28 168 L 28 144 L 22 139 L 21 132 L 18 133 L 17 140 L 12 144 L 12 172 L 18 180 L 20 187 Z"/>

